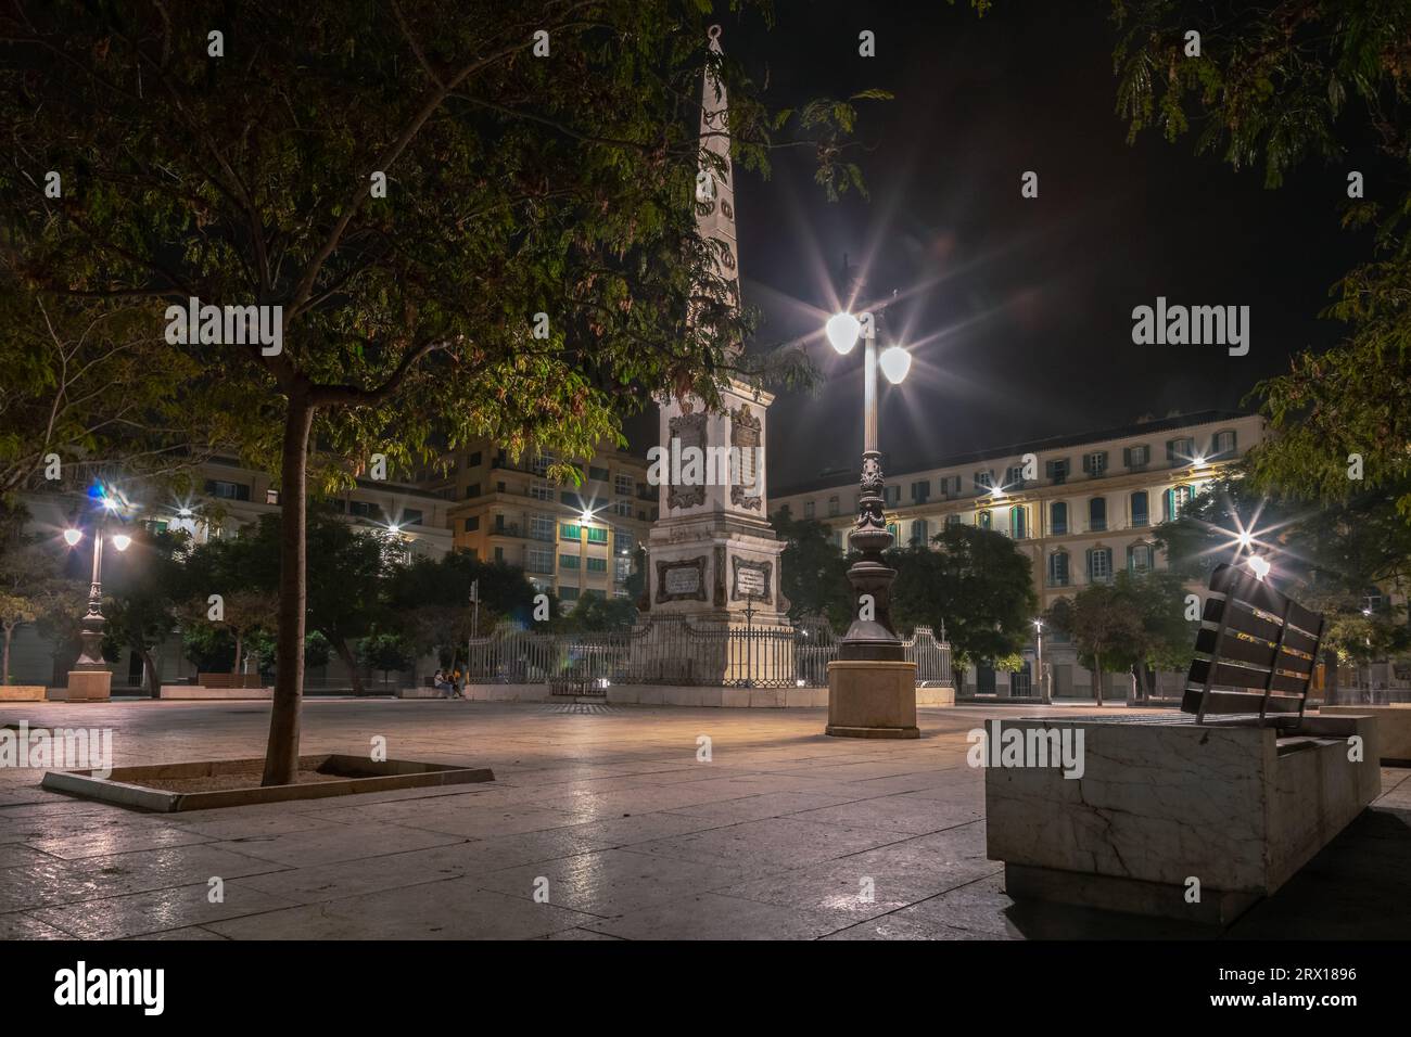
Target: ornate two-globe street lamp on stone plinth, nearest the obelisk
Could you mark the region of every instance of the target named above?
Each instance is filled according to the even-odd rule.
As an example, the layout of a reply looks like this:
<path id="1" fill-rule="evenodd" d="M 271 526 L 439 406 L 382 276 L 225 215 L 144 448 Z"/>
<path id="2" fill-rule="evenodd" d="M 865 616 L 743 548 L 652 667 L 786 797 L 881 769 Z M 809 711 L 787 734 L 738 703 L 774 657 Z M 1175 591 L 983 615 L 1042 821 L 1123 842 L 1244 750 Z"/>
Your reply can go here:
<path id="1" fill-rule="evenodd" d="M 872 322 L 869 322 L 871 325 Z M 847 356 L 856 346 L 862 322 L 838 313 L 825 327 L 828 341 Z M 902 641 L 892 628 L 892 581 L 896 570 L 882 560 L 892 546 L 886 528 L 886 492 L 882 451 L 878 449 L 878 368 L 893 385 L 912 367 L 900 346 L 878 356 L 875 333 L 862 336 L 862 478 L 858 518 L 848 545 L 861 556 L 848 569 L 856 594 L 856 611 L 838 645 L 838 659 L 828 663 L 828 727 L 840 738 L 919 738 L 916 727 L 916 663 L 906 662 Z"/>

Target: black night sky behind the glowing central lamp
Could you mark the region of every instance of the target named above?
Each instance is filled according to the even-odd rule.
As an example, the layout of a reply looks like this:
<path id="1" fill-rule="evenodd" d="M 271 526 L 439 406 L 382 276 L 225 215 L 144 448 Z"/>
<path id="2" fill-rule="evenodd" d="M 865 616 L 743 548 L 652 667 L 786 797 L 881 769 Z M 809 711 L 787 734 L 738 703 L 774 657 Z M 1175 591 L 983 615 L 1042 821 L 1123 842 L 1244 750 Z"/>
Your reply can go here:
<path id="1" fill-rule="evenodd" d="M 1369 254 L 1339 227 L 1346 171 L 1305 164 L 1278 190 L 1263 168 L 1235 172 L 1194 157 L 1194 134 L 1134 145 L 1116 116 L 1116 28 L 1099 0 L 968 3 L 782 0 L 762 31 L 722 18 L 722 45 L 772 106 L 876 86 L 859 154 L 871 200 L 830 205 L 804 150 L 779 152 L 773 176 L 741 172 L 739 254 L 746 305 L 763 310 L 756 347 L 813 336 L 825 372 L 816 396 L 782 394 L 769 412 L 770 491 L 856 464 L 861 348 L 837 357 L 821 337 L 825 277 L 842 254 L 868 262 L 871 295 L 899 291 L 907 381 L 882 394 L 892 471 L 1022 440 L 1125 425 L 1173 411 L 1233 409 L 1291 351 L 1343 330 L 1321 319 L 1328 289 Z M 858 56 L 858 32 L 878 56 Z M 1357 113 L 1353 113 L 1353 119 Z M 1038 198 L 1020 175 L 1038 174 Z M 1250 351 L 1134 346 L 1132 309 L 1247 305 Z M 648 426 L 634 447 L 655 436 Z"/>

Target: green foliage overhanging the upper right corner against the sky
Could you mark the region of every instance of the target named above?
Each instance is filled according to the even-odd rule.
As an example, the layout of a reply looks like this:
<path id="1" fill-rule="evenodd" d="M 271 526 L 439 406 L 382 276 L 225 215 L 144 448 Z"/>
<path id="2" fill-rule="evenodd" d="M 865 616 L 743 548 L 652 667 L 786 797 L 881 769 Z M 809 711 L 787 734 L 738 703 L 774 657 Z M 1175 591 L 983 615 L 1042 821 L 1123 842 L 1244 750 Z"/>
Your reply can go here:
<path id="1" fill-rule="evenodd" d="M 1350 334 L 1256 387 L 1278 435 L 1253 451 L 1252 474 L 1276 495 L 1322 502 L 1386 490 L 1411 523 L 1411 0 L 1115 0 L 1113 18 L 1118 111 L 1132 137 L 1157 126 L 1174 140 L 1195 124 L 1198 151 L 1221 151 L 1236 169 L 1263 162 L 1270 188 L 1363 137 L 1391 158 L 1390 176 L 1345 210 L 1346 226 L 1376 231 L 1374 258 L 1335 286 L 1325 312 Z M 1188 30 L 1201 32 L 1199 56 L 1184 52 Z"/>

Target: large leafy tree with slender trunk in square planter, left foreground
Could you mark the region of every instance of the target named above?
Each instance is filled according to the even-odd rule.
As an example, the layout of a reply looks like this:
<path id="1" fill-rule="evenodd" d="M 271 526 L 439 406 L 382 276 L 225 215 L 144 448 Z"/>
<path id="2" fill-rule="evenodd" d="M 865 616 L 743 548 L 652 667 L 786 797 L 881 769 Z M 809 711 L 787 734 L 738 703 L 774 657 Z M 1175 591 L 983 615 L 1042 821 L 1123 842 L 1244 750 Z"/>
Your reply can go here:
<path id="1" fill-rule="evenodd" d="M 278 351 L 181 350 L 210 382 L 213 437 L 279 468 L 265 783 L 298 762 L 310 437 L 316 481 L 374 451 L 422 459 L 437 425 L 453 446 L 588 456 L 652 394 L 717 405 L 727 375 L 752 374 L 734 350 L 752 320 L 691 200 L 703 164 L 765 168 L 789 113 L 706 28 L 693 0 L 0 14 L 0 220 L 20 277 L 145 301 L 154 323 L 192 298 L 281 308 Z M 698 141 L 707 66 L 729 90 L 734 168 Z M 831 192 L 859 182 L 854 117 L 847 100 L 797 113 Z"/>

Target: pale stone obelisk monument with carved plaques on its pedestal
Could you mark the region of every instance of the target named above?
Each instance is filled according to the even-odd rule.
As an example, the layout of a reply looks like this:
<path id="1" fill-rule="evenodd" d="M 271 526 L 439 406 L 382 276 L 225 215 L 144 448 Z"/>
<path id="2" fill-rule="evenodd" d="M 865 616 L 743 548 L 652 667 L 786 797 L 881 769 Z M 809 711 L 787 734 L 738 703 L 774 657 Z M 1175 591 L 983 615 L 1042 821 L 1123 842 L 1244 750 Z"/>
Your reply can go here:
<path id="1" fill-rule="evenodd" d="M 721 54 L 720 25 L 710 49 Z M 729 161 L 725 86 L 711 69 L 701 89 L 701 147 L 718 162 L 701 159 L 697 222 L 707 240 L 724 245 L 714 260 L 718 277 L 739 305 L 735 241 L 735 188 Z M 780 594 L 779 556 L 785 545 L 769 525 L 765 471 L 765 418 L 773 396 L 731 380 L 722 412 L 707 412 L 693 396 L 660 404 L 660 446 L 672 460 L 660 487 L 660 518 L 648 536 L 646 595 L 653 619 L 680 617 L 703 622 L 786 626 L 789 604 Z M 704 459 L 704 464 L 691 464 Z M 721 470 L 729 477 L 722 478 Z M 650 474 L 650 473 L 649 473 Z"/>

